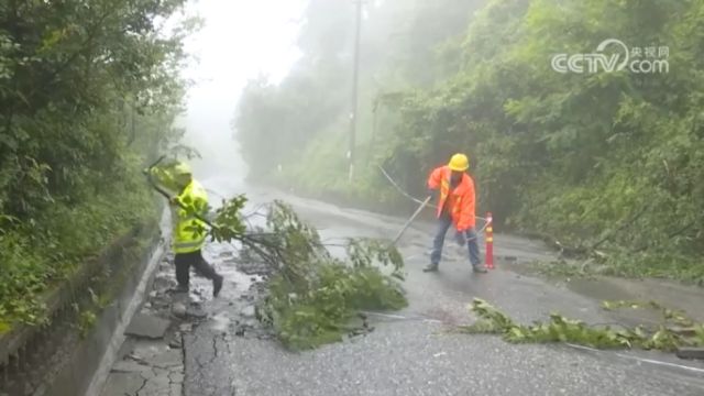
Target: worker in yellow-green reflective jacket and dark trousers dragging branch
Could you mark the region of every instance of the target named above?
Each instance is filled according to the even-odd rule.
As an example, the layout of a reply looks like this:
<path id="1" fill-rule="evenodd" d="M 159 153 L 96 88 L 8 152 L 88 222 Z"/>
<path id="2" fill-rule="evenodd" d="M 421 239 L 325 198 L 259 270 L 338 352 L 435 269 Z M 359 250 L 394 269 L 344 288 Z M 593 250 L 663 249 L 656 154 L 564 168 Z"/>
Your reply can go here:
<path id="1" fill-rule="evenodd" d="M 222 288 L 222 276 L 206 262 L 201 249 L 206 244 L 206 223 L 196 215 L 205 218 L 208 212 L 208 194 L 193 177 L 190 167 L 179 163 L 173 173 L 156 170 L 160 179 L 169 187 L 175 187 L 178 195 L 170 199 L 176 221 L 174 224 L 174 263 L 179 292 L 188 292 L 190 267 L 200 275 L 212 280 L 212 296 L 218 297 Z"/>

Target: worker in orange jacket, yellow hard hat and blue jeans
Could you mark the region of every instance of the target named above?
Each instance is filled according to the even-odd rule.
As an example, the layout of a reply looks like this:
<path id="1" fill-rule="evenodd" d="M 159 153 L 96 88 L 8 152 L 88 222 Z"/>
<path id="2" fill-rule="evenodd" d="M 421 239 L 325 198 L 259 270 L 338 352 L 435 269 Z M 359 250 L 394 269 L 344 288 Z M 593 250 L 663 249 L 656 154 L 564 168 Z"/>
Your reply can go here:
<path id="1" fill-rule="evenodd" d="M 442 245 L 444 235 L 450 226 L 454 226 L 460 243 L 465 239 L 470 250 L 470 262 L 476 273 L 486 273 L 480 258 L 479 237 L 475 230 L 476 217 L 474 215 L 474 182 L 466 173 L 470 168 L 470 161 L 464 154 L 454 154 L 448 165 L 440 166 L 432 170 L 428 178 L 428 188 L 431 195 L 439 193 L 438 197 L 438 230 L 432 241 L 432 253 L 430 264 L 424 272 L 438 271 L 440 257 L 442 256 Z M 438 193 L 436 193 L 438 191 Z"/>

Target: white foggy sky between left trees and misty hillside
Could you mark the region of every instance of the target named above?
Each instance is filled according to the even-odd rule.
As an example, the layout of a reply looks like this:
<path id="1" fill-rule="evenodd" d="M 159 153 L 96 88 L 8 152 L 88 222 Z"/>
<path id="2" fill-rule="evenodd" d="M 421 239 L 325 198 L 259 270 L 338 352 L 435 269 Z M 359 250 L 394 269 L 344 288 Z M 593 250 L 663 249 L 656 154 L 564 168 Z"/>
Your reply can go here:
<path id="1" fill-rule="evenodd" d="M 210 174 L 213 166 L 242 173 L 231 129 L 237 101 L 248 79 L 264 74 L 277 82 L 298 59 L 296 40 L 307 2 L 190 0 L 188 13 L 205 20 L 186 43 L 199 61 L 185 70 L 196 80 L 188 91 L 185 143 L 209 160 L 194 164 L 197 174 Z"/>

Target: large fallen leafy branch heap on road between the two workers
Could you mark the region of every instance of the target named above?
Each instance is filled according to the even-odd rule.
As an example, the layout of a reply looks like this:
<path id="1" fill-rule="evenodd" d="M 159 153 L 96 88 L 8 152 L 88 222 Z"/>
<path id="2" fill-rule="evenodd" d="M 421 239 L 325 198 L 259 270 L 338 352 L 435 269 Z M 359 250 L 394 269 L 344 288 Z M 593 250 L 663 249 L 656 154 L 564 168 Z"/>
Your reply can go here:
<path id="1" fill-rule="evenodd" d="M 345 254 L 336 256 L 317 230 L 283 201 L 268 206 L 265 229 L 248 230 L 241 215 L 245 201 L 239 196 L 223 202 L 209 232 L 217 241 L 240 242 L 242 257 L 268 266 L 266 297 L 256 316 L 287 348 L 341 341 L 365 327 L 353 323 L 359 311 L 407 306 L 399 282 L 404 262 L 389 243 L 349 239 L 337 246 Z"/>

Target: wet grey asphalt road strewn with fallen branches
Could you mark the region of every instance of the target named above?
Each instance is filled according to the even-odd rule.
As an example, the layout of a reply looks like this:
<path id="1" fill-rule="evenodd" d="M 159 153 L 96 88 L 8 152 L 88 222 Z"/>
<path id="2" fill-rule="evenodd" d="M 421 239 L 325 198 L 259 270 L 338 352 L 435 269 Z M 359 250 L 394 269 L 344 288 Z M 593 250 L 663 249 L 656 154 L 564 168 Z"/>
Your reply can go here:
<path id="1" fill-rule="evenodd" d="M 223 180 L 204 182 L 221 195 L 243 191 Z M 286 199 L 323 239 L 393 238 L 405 221 L 271 191 L 246 193 L 253 206 Z M 431 232 L 432 224 L 418 223 L 399 242 L 408 273 L 407 309 L 371 315 L 372 333 L 302 353 L 233 334 L 229 318 L 235 308 L 228 301 L 249 285 L 232 264 L 219 258 L 229 248 L 210 245 L 206 254 L 228 280 L 221 296 L 206 302 L 212 319 L 184 339 L 185 395 L 704 395 L 704 364 L 668 354 L 515 345 L 448 331 L 442 322 L 471 320 L 468 305 L 474 297 L 526 322 L 554 310 L 592 323 L 613 318 L 598 308 L 597 299 L 501 266 L 472 274 L 466 251 L 451 239 L 440 272 L 425 274 Z M 519 263 L 550 256 L 539 244 L 501 234 L 495 237 L 495 253 L 516 256 Z M 208 287 L 204 279 L 191 282 Z"/>

